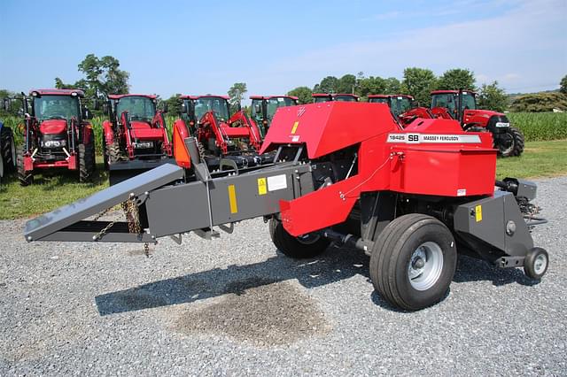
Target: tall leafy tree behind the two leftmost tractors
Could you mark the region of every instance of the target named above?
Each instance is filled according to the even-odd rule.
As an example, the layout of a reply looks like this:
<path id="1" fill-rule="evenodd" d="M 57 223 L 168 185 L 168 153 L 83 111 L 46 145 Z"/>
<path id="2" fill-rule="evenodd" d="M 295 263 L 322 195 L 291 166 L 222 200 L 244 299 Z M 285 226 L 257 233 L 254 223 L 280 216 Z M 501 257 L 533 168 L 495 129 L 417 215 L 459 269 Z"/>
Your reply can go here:
<path id="1" fill-rule="evenodd" d="M 56 88 L 82 88 L 89 98 L 98 98 L 109 94 L 128 94 L 128 78 L 130 74 L 120 70 L 117 58 L 105 56 L 97 58 L 95 54 L 87 55 L 79 65 L 79 72 L 85 77 L 74 84 L 65 83 L 55 78 Z"/>

